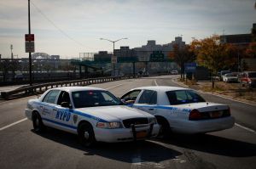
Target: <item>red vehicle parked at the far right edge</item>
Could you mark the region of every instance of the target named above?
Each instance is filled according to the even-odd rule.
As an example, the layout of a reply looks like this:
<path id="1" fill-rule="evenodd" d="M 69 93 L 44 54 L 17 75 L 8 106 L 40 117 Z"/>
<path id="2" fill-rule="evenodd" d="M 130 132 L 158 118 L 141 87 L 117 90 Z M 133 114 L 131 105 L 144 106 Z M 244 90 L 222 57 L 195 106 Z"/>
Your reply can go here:
<path id="1" fill-rule="evenodd" d="M 256 87 L 256 71 L 244 71 L 240 74 L 242 85 L 247 87 Z"/>

